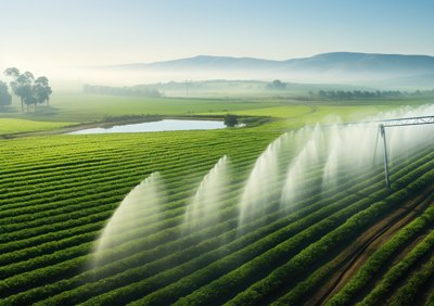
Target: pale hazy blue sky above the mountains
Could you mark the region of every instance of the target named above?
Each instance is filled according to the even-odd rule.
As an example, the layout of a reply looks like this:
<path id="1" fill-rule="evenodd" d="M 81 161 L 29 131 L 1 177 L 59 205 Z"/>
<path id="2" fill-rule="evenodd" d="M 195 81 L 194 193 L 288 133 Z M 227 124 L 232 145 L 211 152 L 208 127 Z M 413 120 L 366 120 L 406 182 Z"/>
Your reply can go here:
<path id="1" fill-rule="evenodd" d="M 0 0 L 0 67 L 434 55 L 432 0 Z"/>

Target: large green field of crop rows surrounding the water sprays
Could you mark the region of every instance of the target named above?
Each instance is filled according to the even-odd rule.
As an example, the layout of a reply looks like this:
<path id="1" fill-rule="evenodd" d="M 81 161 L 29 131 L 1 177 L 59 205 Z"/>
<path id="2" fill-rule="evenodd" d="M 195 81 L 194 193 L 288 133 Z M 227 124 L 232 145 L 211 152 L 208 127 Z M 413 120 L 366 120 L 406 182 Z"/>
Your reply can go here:
<path id="1" fill-rule="evenodd" d="M 186 102 L 194 104 L 192 110 L 199 103 L 174 100 L 171 112 L 178 112 L 175 104 L 182 104 L 179 114 L 184 114 L 190 107 Z M 142 101 L 129 105 L 135 103 Z M 162 112 L 161 101 L 149 103 Z M 340 173 L 337 184 L 322 192 L 314 182 L 323 170 L 308 163 L 309 175 L 301 179 L 312 183 L 304 186 L 303 196 L 291 209 L 276 206 L 273 200 L 256 218 L 240 225 L 244 182 L 271 141 L 303 122 L 326 120 L 336 112 L 354 119 L 361 110 L 373 114 L 386 109 L 318 105 L 310 112 L 307 106 L 292 110 L 282 102 L 271 106 L 240 103 L 212 100 L 197 112 L 232 105 L 231 111 L 240 114 L 245 110 L 246 115 L 294 118 L 224 130 L 0 140 L 1 304 L 401 305 L 403 301 L 432 301 L 434 145 L 421 144 L 392 161 L 391 190 L 384 188 L 380 164 L 357 174 Z M 78 106 L 74 113 L 66 104 L 69 119 L 94 118 L 94 114 L 86 117 Z M 114 111 L 114 100 L 108 105 L 112 114 L 130 112 Z M 59 113 L 59 119 L 66 117 Z M 296 155 L 293 142 L 282 150 L 271 186 L 276 190 Z M 230 158 L 232 171 L 222 204 L 203 217 L 200 230 L 186 233 L 187 206 L 224 155 Z M 102 264 L 92 265 L 95 241 L 116 207 L 155 171 L 167 192 L 161 213 L 124 232 L 127 238 L 129 231 L 136 234 L 115 245 Z M 265 176 L 261 181 L 268 179 Z"/>

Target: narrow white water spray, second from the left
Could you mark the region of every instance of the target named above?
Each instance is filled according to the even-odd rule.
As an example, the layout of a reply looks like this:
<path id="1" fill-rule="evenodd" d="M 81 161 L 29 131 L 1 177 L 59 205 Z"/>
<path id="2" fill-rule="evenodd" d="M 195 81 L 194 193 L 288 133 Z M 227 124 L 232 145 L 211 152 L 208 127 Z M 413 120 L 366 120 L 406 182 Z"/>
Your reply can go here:
<path id="1" fill-rule="evenodd" d="M 201 181 L 186 211 L 186 232 L 219 221 L 218 211 L 228 187 L 229 165 L 229 158 L 226 155 L 222 156 Z"/>

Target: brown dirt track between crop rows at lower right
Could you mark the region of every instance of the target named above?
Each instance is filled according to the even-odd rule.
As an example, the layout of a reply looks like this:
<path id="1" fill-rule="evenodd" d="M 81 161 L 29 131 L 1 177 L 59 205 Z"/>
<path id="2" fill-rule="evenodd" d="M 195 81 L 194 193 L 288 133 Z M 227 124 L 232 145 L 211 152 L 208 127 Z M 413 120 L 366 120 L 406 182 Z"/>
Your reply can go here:
<path id="1" fill-rule="evenodd" d="M 330 296 L 339 292 L 343 285 L 345 285 L 347 280 L 366 263 L 380 245 L 385 243 L 399 229 L 412 221 L 423 213 L 426 206 L 433 203 L 432 201 L 424 203 L 433 193 L 434 184 L 423 190 L 421 194 L 417 194 L 412 199 L 406 201 L 399 209 L 373 225 L 359 237 L 357 241 L 347 246 L 345 251 L 333 259 L 339 264 L 333 270 L 333 275 L 330 276 L 328 283 L 309 298 L 305 305 L 324 305 Z M 400 253 L 400 256 L 405 256 L 405 254 Z"/>

